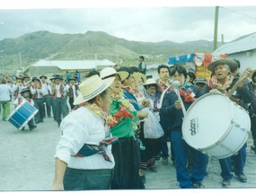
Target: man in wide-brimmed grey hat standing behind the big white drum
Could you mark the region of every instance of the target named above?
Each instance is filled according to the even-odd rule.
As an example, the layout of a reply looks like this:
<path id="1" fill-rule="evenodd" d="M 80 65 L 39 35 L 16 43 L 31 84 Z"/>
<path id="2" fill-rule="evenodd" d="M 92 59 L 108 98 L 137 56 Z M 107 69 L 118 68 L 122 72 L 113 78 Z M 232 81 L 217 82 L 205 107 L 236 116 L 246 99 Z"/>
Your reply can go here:
<path id="1" fill-rule="evenodd" d="M 232 99 L 241 105 L 245 110 L 247 109 L 247 104 L 252 102 L 253 93 L 248 88 L 247 83 L 238 77 L 231 75 L 237 70 L 237 63 L 234 59 L 224 58 L 216 60 L 215 62 L 209 64 L 207 69 L 212 71 L 214 75 L 207 81 L 204 88 L 204 92 L 221 92 L 228 95 L 228 92 L 237 86 Z M 234 174 L 237 176 L 238 180 L 242 182 L 247 181 L 247 177 L 243 173 L 243 168 L 246 159 L 246 143 L 239 150 L 238 154 L 234 155 Z M 219 159 L 221 166 L 221 176 L 223 178 L 222 185 L 224 188 L 230 187 L 230 180 L 233 178 L 231 173 L 231 157 L 225 159 Z"/>

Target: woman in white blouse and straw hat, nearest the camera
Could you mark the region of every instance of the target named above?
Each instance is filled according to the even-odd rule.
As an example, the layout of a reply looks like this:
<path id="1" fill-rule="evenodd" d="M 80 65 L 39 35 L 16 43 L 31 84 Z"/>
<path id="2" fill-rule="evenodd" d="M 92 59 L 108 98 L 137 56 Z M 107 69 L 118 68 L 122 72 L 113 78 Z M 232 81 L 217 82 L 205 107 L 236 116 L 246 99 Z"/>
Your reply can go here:
<path id="1" fill-rule="evenodd" d="M 62 136 L 57 144 L 55 178 L 51 189 L 110 189 L 115 165 L 111 154 L 107 113 L 114 78 L 102 80 L 98 75 L 79 85 L 74 104 L 79 108 L 61 122 Z"/>

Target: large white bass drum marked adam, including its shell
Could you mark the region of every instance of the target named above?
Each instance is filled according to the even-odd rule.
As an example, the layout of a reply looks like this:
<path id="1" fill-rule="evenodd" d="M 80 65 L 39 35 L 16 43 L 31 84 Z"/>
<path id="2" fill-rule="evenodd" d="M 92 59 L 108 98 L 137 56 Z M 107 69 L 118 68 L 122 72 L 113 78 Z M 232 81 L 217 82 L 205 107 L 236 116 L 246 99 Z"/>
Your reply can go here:
<path id="1" fill-rule="evenodd" d="M 191 147 L 217 159 L 236 154 L 251 131 L 246 110 L 221 93 L 207 93 L 195 101 L 182 124 Z"/>

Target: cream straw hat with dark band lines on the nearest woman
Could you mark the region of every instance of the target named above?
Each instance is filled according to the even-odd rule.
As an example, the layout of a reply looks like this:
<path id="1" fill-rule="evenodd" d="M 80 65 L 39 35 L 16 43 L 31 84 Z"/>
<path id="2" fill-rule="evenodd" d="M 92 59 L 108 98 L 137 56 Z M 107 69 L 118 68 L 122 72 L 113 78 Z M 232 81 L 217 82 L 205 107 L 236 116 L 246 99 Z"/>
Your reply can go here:
<path id="1" fill-rule="evenodd" d="M 102 80 L 99 75 L 93 75 L 87 78 L 78 86 L 80 94 L 75 99 L 74 105 L 81 104 L 98 96 L 100 93 L 109 88 L 114 80 L 115 77 L 110 77 Z"/>

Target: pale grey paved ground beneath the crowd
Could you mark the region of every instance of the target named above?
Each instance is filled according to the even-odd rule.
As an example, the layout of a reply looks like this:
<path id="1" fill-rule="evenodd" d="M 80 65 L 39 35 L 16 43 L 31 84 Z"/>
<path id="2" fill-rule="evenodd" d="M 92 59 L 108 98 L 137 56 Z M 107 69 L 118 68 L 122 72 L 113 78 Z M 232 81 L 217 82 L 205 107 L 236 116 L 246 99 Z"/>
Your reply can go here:
<path id="1" fill-rule="evenodd" d="M 33 131 L 18 131 L 9 122 L 0 120 L 0 190 L 48 190 L 54 174 L 55 147 L 60 130 L 53 118 L 45 118 Z M 234 178 L 231 188 L 256 188 L 256 154 L 248 140 L 245 173 L 247 183 Z M 156 163 L 158 172 L 146 171 L 146 189 L 179 189 L 172 163 Z M 216 159 L 207 166 L 204 184 L 208 189 L 221 187 L 220 167 Z M 251 189 L 252 190 L 252 189 Z"/>

